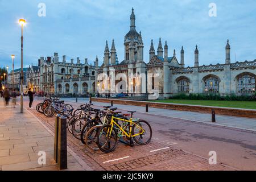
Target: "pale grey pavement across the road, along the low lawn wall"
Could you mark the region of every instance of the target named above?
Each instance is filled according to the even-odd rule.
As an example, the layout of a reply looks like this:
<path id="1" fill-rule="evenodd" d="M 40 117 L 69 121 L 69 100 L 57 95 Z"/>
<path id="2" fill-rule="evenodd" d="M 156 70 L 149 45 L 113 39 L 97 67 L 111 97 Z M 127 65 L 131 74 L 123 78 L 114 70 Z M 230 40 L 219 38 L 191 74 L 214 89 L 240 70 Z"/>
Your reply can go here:
<path id="1" fill-rule="evenodd" d="M 75 98 L 64 98 L 64 100 L 76 102 Z M 88 102 L 88 100 L 79 98 L 78 102 L 82 104 L 82 103 Z M 93 102 L 93 104 L 96 106 L 108 105 L 104 102 Z M 121 109 L 121 110 L 136 110 L 137 112 L 144 113 L 144 114 L 162 115 L 165 117 L 184 119 L 184 120 L 193 121 L 193 122 L 207 123 L 210 125 L 233 127 L 235 129 L 242 129 L 242 130 L 249 130 L 249 131 L 256 132 L 256 119 L 254 118 L 233 117 L 229 115 L 216 114 L 216 123 L 212 123 L 212 115 L 208 113 L 170 110 L 170 109 L 158 109 L 153 107 L 149 107 L 148 113 L 146 113 L 145 107 L 141 107 L 141 106 L 120 105 L 120 104 L 114 104 L 114 106 L 118 107 L 118 109 Z"/>

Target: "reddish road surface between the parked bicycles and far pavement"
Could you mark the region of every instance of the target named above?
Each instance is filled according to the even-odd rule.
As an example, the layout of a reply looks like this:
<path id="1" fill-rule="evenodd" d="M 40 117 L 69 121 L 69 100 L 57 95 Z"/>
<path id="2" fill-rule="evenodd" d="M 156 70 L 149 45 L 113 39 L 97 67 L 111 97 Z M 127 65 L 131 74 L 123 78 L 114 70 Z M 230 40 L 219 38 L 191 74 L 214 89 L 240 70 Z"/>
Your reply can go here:
<path id="1" fill-rule="evenodd" d="M 35 99 L 34 107 L 38 102 Z M 74 108 L 80 105 L 71 101 L 67 103 Z M 27 99 L 24 105 L 28 105 Z M 97 103 L 94 106 L 100 107 Z M 155 149 L 171 146 L 207 160 L 209 152 L 216 151 L 218 163 L 234 169 L 256 170 L 256 134 L 253 132 L 144 113 L 136 113 L 134 117 L 144 119 L 152 126 L 152 141 L 156 146 L 151 147 Z"/>

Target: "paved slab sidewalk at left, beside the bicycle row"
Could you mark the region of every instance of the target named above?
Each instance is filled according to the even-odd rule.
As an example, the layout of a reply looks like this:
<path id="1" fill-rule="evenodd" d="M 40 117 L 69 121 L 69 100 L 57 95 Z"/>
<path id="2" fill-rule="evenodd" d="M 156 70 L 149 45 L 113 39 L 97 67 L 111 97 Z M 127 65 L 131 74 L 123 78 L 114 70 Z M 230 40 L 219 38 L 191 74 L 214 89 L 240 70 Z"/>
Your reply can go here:
<path id="1" fill-rule="evenodd" d="M 58 170 L 53 160 L 53 133 L 24 107 L 5 107 L 0 99 L 0 171 Z M 46 165 L 38 164 L 39 151 L 46 152 Z M 68 152 L 68 169 L 83 170 Z"/>

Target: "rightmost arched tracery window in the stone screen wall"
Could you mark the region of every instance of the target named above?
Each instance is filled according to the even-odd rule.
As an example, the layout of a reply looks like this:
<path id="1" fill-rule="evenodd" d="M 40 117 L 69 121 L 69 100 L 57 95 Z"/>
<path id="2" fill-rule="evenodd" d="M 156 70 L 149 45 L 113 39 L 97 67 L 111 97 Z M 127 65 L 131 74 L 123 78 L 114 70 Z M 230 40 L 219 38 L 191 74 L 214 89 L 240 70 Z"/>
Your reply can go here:
<path id="1" fill-rule="evenodd" d="M 237 77 L 237 92 L 240 94 L 255 93 L 255 75 L 251 73 L 243 73 Z"/>

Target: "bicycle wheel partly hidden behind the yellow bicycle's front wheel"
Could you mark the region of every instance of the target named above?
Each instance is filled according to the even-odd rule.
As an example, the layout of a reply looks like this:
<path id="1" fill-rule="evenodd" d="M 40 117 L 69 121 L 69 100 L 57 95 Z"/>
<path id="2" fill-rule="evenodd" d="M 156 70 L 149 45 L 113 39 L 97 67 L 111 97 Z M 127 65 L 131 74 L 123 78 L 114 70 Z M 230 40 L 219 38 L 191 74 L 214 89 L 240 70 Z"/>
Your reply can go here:
<path id="1" fill-rule="evenodd" d="M 101 127 L 101 125 L 93 126 L 85 135 L 85 144 L 92 151 L 99 150 L 97 145 L 97 133 Z"/>

